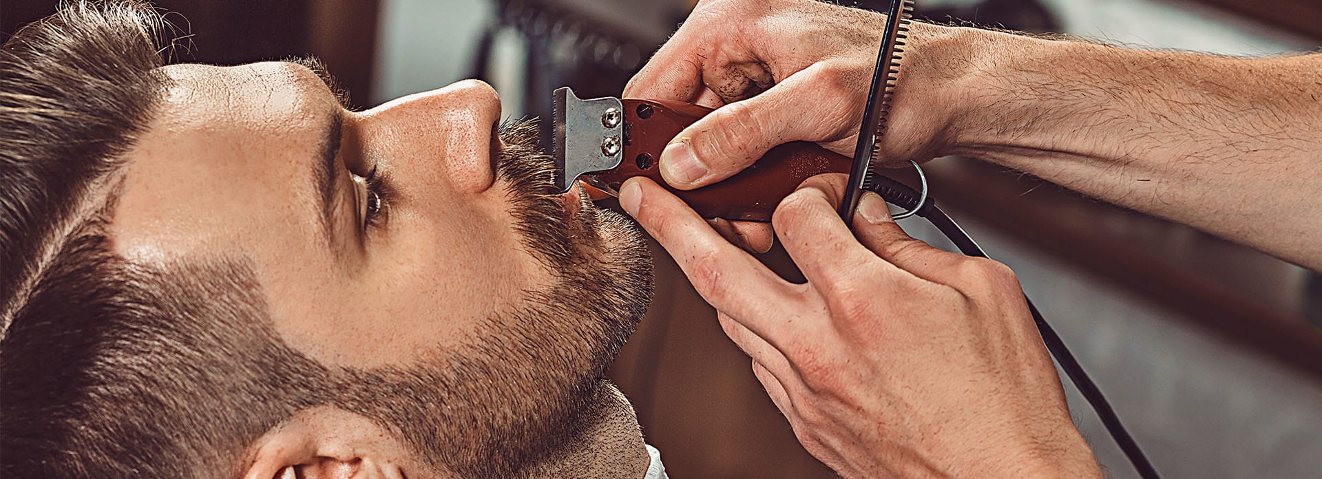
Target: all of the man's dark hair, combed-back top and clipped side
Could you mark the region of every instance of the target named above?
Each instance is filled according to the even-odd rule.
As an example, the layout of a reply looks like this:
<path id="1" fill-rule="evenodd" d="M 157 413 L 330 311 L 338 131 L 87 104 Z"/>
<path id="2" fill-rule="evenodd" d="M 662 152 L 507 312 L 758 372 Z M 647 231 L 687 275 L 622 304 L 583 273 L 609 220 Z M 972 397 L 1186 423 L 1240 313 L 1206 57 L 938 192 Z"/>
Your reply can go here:
<path id="1" fill-rule="evenodd" d="M 114 253 L 116 172 L 168 87 L 161 25 L 77 1 L 0 48 L 0 476 L 234 476 L 312 401 L 288 385 L 327 381 L 243 259 Z"/>

